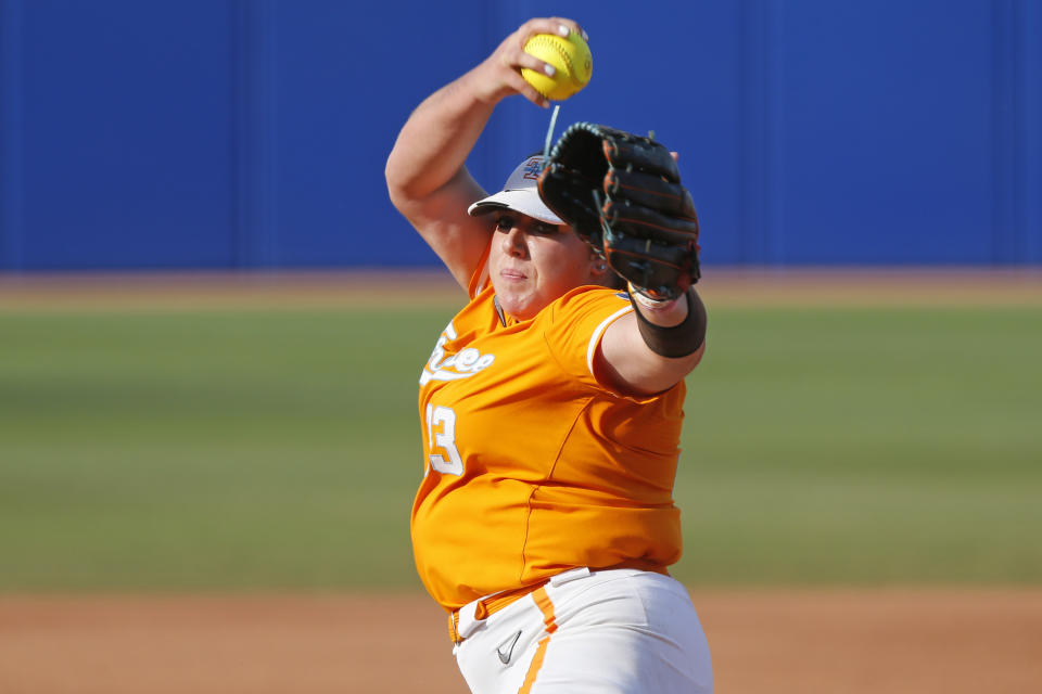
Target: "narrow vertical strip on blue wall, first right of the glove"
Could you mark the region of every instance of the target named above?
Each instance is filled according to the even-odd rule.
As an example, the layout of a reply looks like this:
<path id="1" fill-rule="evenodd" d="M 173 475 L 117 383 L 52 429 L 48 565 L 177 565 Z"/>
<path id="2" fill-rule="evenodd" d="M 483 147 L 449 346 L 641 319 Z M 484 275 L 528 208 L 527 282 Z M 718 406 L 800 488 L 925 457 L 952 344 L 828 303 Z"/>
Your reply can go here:
<path id="1" fill-rule="evenodd" d="M 771 265 L 785 264 L 785 44 L 784 5 L 774 0 L 766 10 L 766 184 L 764 252 Z"/>

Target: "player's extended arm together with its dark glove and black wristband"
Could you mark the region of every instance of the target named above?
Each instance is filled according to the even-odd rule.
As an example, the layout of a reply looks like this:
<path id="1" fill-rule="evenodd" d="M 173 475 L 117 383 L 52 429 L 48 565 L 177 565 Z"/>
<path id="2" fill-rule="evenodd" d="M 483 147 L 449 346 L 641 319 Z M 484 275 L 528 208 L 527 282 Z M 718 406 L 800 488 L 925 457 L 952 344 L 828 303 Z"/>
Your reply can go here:
<path id="1" fill-rule="evenodd" d="M 593 357 L 598 377 L 630 395 L 675 386 L 704 350 L 698 215 L 676 159 L 651 137 L 576 123 L 539 175 L 543 202 L 628 282 L 634 311 Z"/>

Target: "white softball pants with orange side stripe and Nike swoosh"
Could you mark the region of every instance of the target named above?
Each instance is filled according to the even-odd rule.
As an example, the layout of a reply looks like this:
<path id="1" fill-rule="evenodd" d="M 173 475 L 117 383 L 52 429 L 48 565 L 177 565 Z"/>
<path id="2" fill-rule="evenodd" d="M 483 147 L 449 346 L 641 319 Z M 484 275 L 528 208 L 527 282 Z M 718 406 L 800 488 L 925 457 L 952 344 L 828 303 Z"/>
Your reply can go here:
<path id="1" fill-rule="evenodd" d="M 460 609 L 456 661 L 473 694 L 703 694 L 709 644 L 687 590 L 636 569 L 575 569 L 487 619 Z"/>

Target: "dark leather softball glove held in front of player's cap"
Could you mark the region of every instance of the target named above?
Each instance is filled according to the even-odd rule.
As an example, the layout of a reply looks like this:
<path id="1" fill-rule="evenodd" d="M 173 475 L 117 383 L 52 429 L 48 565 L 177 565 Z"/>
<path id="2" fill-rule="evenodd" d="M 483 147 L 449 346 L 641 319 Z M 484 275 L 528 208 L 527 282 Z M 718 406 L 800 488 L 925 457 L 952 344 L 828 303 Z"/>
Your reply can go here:
<path id="1" fill-rule="evenodd" d="M 698 281 L 698 218 L 670 151 L 576 123 L 550 150 L 539 196 L 643 294 L 672 299 Z"/>

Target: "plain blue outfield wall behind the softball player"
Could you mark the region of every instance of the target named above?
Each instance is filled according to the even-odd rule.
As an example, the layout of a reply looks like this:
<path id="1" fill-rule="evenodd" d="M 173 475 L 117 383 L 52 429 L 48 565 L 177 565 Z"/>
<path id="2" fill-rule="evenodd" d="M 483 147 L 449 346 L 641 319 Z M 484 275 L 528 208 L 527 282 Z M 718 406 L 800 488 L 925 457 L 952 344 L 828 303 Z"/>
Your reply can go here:
<path id="1" fill-rule="evenodd" d="M 681 153 L 707 265 L 1042 262 L 1037 0 L 0 0 L 0 270 L 436 264 L 387 202 L 410 111 L 530 16 L 576 120 Z M 469 166 L 541 147 L 512 98 Z"/>

